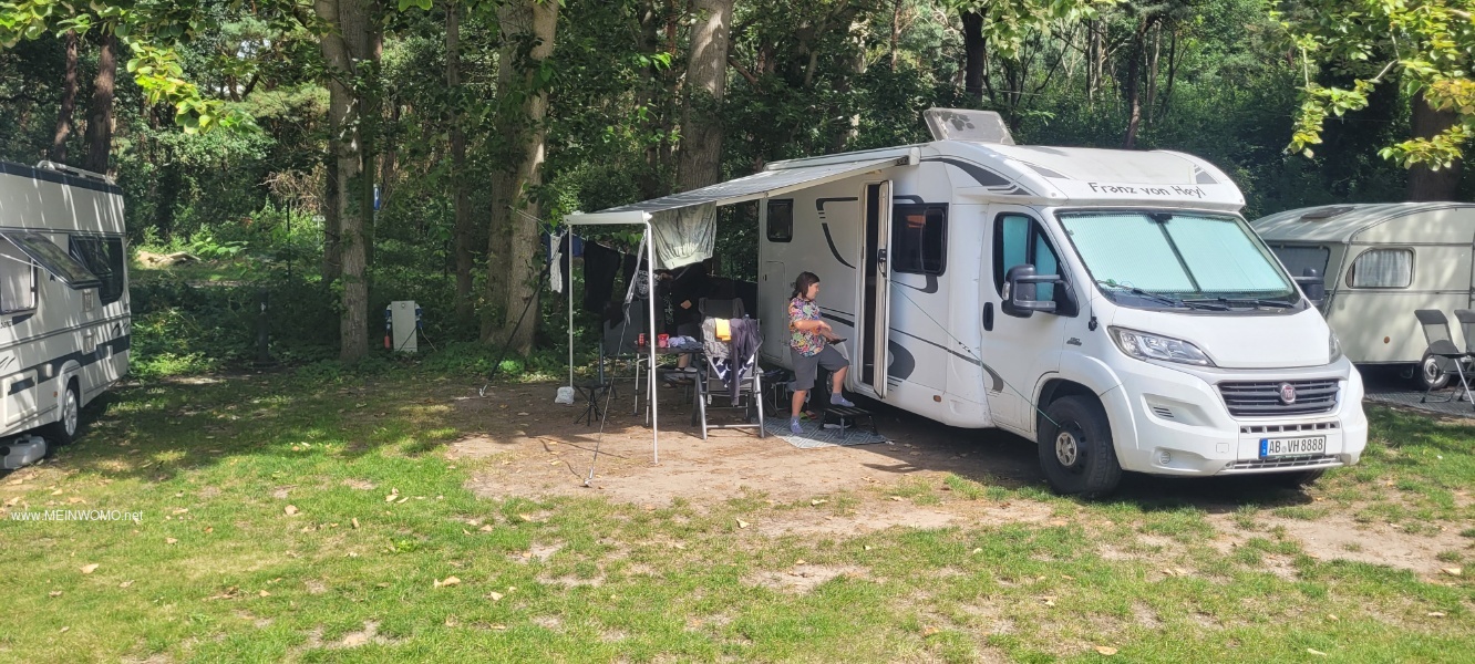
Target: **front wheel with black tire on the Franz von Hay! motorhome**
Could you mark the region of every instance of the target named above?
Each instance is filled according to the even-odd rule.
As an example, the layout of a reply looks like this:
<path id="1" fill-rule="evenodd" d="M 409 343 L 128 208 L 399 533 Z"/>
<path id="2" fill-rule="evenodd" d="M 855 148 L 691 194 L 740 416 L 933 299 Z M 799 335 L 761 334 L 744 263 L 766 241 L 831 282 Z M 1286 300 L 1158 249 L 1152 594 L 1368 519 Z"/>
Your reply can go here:
<path id="1" fill-rule="evenodd" d="M 1063 397 L 1040 419 L 1040 468 L 1050 488 L 1066 496 L 1102 497 L 1121 481 L 1111 422 L 1093 397 Z"/>

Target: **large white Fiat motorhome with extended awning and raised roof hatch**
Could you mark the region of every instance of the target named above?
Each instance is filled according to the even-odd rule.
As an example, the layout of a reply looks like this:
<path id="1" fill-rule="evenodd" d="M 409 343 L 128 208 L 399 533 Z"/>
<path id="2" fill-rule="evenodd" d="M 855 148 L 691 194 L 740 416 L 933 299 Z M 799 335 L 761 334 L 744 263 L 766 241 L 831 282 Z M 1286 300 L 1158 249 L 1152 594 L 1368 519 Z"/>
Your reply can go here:
<path id="1" fill-rule="evenodd" d="M 850 338 L 848 390 L 1035 440 L 1061 493 L 1108 493 L 1124 469 L 1301 484 L 1358 460 L 1361 378 L 1224 173 L 1016 146 L 988 112 L 926 120 L 931 143 L 776 162 L 580 223 L 653 218 L 659 249 L 662 226 L 693 235 L 661 212 L 758 199 L 768 362 L 789 364 L 792 282 L 813 272 Z"/>

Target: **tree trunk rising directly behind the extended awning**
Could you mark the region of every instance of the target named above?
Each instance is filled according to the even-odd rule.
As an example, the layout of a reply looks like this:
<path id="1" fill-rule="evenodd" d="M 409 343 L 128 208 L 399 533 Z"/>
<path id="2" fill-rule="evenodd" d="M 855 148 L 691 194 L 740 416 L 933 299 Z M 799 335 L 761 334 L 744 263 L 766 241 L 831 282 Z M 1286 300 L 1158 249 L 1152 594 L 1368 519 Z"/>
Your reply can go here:
<path id="1" fill-rule="evenodd" d="M 695 0 L 693 6 L 696 25 L 686 59 L 681 152 L 676 165 L 677 187 L 683 192 L 723 179 L 721 103 L 733 22 L 733 0 Z"/>

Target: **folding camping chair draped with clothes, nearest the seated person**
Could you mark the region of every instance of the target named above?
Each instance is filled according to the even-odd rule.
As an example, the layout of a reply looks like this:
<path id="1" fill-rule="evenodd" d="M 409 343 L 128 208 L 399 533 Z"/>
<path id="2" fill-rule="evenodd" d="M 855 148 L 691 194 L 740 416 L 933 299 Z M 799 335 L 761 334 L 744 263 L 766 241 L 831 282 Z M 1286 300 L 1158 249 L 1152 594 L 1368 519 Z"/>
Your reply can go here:
<path id="1" fill-rule="evenodd" d="M 742 302 L 738 302 L 740 308 Z M 732 325 L 751 326 L 752 331 L 760 329 L 757 319 L 738 319 Z M 708 429 L 758 429 L 758 438 L 766 438 L 767 432 L 763 428 L 763 370 L 758 367 L 763 336 L 758 336 L 748 357 L 733 357 L 730 341 L 708 339 L 704 345 L 707 347 L 707 353 L 702 354 L 705 366 L 701 369 L 701 378 L 696 381 L 698 394 L 696 409 L 692 410 L 692 425 L 701 423 L 702 440 L 707 440 Z M 733 381 L 738 381 L 736 395 L 733 395 L 732 390 Z M 723 401 L 729 401 L 730 406 L 720 406 Z M 708 413 L 712 410 L 740 410 L 748 421 L 715 425 L 708 422 Z"/>

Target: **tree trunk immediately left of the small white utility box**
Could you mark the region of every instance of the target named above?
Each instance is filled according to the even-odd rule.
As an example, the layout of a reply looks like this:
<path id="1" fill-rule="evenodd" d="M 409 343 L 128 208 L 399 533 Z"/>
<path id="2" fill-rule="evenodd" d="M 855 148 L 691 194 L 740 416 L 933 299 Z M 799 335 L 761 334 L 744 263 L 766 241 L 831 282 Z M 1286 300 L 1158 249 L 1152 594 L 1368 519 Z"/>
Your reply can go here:
<path id="1" fill-rule="evenodd" d="M 338 190 L 338 252 L 341 257 L 342 319 L 339 359 L 358 362 L 369 354 L 369 283 L 366 220 L 373 214 L 372 140 L 373 100 L 348 87 L 360 77 L 358 65 L 376 60 L 370 12 L 372 0 L 316 0 L 317 16 L 335 30 L 320 38 L 327 60 L 330 97 L 329 124 L 335 128 L 335 184 Z M 336 143 L 336 145 L 333 145 Z M 355 196 L 357 195 L 357 196 Z M 329 224 L 332 226 L 332 224 Z"/>

